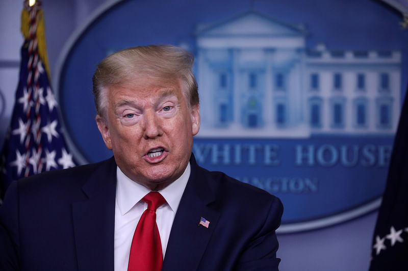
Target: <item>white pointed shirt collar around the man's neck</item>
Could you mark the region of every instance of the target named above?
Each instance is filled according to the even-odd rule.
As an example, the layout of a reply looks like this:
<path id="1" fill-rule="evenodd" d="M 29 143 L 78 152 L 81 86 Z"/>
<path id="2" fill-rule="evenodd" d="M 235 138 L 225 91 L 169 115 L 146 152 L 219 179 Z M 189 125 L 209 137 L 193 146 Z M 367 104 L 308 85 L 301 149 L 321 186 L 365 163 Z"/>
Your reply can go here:
<path id="1" fill-rule="evenodd" d="M 184 189 L 190 177 L 190 171 L 189 162 L 179 179 L 159 191 L 174 213 L 179 207 Z M 116 204 L 119 207 L 120 213 L 124 215 L 149 193 L 150 189 L 127 177 L 119 167 L 116 167 L 116 178 Z"/>

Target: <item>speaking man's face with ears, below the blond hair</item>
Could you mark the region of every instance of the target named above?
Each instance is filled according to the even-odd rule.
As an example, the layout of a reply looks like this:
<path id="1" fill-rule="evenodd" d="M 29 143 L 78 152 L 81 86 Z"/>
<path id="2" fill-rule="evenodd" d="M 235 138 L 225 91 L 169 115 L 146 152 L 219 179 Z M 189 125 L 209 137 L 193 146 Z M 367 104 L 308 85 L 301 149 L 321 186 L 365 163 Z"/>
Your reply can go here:
<path id="1" fill-rule="evenodd" d="M 189 109 L 179 80 L 144 77 L 105 91 L 106 116 L 96 122 L 120 170 L 152 190 L 179 178 L 200 127 L 199 105 Z"/>

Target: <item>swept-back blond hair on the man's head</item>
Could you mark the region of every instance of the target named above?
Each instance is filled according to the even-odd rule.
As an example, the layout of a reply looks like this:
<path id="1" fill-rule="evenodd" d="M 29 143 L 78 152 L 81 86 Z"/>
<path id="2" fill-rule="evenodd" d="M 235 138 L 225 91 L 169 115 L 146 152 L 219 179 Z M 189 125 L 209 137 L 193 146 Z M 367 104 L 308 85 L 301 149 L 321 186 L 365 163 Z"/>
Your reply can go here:
<path id="1" fill-rule="evenodd" d="M 192 72 L 194 56 L 173 45 L 148 45 L 123 49 L 101 61 L 92 77 L 96 113 L 104 116 L 106 89 L 147 76 L 162 81 L 179 79 L 190 106 L 199 103 L 198 86 Z"/>

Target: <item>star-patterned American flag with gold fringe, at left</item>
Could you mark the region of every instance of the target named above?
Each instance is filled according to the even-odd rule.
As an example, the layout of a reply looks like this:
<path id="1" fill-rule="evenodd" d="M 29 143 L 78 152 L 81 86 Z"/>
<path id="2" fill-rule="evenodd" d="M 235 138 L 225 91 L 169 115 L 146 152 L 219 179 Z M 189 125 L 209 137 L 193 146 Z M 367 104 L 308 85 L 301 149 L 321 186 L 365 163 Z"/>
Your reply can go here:
<path id="1" fill-rule="evenodd" d="M 58 118 L 57 101 L 48 80 L 41 3 L 21 13 L 20 76 L 11 124 L 0 161 L 2 197 L 8 185 L 23 177 L 74 166 Z"/>

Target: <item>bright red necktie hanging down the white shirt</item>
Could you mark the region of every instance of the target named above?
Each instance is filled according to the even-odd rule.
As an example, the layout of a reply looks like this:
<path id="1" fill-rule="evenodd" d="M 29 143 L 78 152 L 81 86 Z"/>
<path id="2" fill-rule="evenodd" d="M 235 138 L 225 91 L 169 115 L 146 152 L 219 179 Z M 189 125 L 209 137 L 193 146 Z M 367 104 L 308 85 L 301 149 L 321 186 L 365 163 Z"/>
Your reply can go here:
<path id="1" fill-rule="evenodd" d="M 128 271 L 160 271 L 163 265 L 162 243 L 156 224 L 156 210 L 166 200 L 159 192 L 142 199 L 147 203 L 132 239 Z"/>

